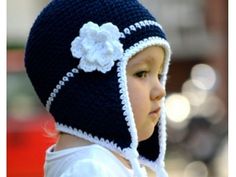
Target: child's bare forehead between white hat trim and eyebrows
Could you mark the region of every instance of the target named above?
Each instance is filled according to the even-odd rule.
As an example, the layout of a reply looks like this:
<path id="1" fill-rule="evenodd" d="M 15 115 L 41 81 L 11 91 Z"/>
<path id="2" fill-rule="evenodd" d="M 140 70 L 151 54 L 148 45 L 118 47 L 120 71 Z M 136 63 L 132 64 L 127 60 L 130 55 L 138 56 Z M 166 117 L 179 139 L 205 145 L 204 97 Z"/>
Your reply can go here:
<path id="1" fill-rule="evenodd" d="M 164 49 L 160 46 L 150 46 L 138 52 L 129 60 L 129 64 L 136 65 L 139 63 L 163 63 Z"/>

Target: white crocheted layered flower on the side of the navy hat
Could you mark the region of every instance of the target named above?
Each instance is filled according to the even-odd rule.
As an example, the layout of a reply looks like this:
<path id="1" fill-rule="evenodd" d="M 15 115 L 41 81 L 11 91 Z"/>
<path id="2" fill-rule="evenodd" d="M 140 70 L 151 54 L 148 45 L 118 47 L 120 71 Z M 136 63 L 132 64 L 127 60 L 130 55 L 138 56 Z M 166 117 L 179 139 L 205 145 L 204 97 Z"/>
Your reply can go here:
<path id="1" fill-rule="evenodd" d="M 100 27 L 93 22 L 84 24 L 80 36 L 71 43 L 73 57 L 80 59 L 79 68 L 85 72 L 110 71 L 114 62 L 123 56 L 120 36 L 118 27 L 112 23 Z"/>

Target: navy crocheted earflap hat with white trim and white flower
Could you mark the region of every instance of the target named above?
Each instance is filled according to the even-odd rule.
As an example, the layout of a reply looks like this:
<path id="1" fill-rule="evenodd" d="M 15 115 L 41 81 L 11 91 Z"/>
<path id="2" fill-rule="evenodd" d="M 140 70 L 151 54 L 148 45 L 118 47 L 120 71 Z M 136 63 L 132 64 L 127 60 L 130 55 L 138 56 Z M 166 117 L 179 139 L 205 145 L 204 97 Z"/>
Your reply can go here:
<path id="1" fill-rule="evenodd" d="M 152 136 L 138 142 L 126 65 L 143 49 L 170 46 L 161 25 L 137 0 L 52 0 L 31 28 L 25 66 L 57 130 L 120 153 L 137 177 L 138 160 L 166 177 L 164 99 Z"/>

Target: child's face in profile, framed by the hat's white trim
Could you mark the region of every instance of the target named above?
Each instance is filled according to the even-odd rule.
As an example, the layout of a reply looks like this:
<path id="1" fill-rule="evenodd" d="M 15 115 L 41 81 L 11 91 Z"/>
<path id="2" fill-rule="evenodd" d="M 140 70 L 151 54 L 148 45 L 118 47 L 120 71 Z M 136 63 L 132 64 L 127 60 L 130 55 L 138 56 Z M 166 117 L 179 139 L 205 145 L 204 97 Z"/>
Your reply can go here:
<path id="1" fill-rule="evenodd" d="M 132 57 L 127 64 L 129 98 L 139 141 L 149 138 L 160 118 L 160 102 L 165 90 L 160 84 L 164 50 L 151 46 Z"/>

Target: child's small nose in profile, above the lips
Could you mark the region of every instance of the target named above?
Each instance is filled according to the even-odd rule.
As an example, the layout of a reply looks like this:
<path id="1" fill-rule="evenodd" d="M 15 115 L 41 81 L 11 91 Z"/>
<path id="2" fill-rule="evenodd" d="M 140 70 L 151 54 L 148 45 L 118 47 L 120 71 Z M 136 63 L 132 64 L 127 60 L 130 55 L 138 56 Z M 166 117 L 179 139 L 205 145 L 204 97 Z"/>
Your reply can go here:
<path id="1" fill-rule="evenodd" d="M 160 81 L 157 80 L 151 89 L 151 100 L 160 100 L 162 97 L 166 96 L 166 91 L 161 85 Z"/>

